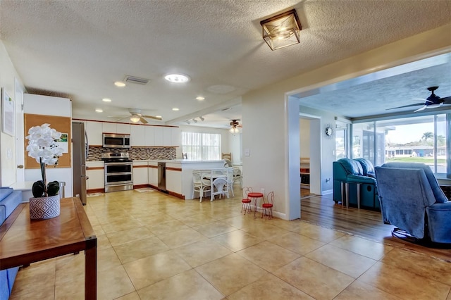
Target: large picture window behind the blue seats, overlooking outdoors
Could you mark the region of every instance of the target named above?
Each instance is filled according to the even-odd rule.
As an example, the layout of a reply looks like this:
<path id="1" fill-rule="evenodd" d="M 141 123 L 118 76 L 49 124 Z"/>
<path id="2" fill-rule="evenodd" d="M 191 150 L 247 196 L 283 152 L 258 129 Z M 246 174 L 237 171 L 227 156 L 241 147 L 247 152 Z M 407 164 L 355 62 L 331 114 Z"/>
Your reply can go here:
<path id="1" fill-rule="evenodd" d="M 426 163 L 435 174 L 449 176 L 447 139 L 451 137 L 446 136 L 447 124 L 450 126 L 445 113 L 355 123 L 353 158 L 368 158 L 375 165 L 390 161 Z"/>

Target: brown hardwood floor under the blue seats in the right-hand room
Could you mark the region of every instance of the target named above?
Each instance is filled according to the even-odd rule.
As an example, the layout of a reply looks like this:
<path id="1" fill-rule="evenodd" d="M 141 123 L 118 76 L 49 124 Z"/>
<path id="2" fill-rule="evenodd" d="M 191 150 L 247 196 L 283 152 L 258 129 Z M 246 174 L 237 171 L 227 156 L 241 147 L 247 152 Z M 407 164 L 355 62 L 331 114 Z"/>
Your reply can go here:
<path id="1" fill-rule="evenodd" d="M 451 262 L 451 249 L 432 249 L 397 239 L 391 235 L 395 226 L 384 224 L 380 212 L 343 207 L 335 204 L 331 194 L 302 198 L 301 220 Z"/>

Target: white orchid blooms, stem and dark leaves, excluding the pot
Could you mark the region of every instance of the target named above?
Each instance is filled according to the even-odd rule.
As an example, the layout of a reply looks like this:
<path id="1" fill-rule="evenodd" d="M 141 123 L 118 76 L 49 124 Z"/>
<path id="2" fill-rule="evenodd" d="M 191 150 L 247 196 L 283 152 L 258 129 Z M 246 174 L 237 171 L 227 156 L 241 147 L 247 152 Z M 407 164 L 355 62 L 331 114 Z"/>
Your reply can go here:
<path id="1" fill-rule="evenodd" d="M 63 155 L 63 148 L 56 142 L 61 138 L 61 132 L 50 128 L 50 124 L 34 126 L 28 130 L 28 156 L 35 158 L 41 166 L 42 180 L 33 184 L 32 193 L 35 197 L 54 196 L 59 192 L 59 182 L 46 183 L 45 166 L 57 165 L 58 157 Z"/>

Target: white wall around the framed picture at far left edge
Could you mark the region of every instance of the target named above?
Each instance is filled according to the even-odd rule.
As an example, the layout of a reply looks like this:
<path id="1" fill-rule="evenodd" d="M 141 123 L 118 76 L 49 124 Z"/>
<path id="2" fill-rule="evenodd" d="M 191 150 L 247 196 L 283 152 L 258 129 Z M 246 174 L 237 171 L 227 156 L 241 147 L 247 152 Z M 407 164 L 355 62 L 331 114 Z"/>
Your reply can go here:
<path id="1" fill-rule="evenodd" d="M 23 83 L 16 68 L 14 68 L 11 58 L 0 40 L 0 86 L 3 87 L 8 95 L 15 99 L 15 78 L 20 85 Z M 0 124 L 1 124 L 0 113 Z M 16 137 L 11 137 L 3 132 L 0 133 L 0 186 L 8 187 L 16 182 Z"/>

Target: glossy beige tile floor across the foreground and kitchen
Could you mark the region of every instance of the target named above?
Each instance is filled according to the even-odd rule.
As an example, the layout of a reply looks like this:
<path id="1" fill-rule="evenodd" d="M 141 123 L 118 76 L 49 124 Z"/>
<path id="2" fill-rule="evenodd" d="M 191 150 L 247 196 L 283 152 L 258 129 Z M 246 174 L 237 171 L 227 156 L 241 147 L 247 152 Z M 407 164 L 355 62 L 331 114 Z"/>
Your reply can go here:
<path id="1" fill-rule="evenodd" d="M 114 192 L 89 197 L 85 210 L 98 299 L 451 300 L 450 263 L 302 220 L 254 219 L 240 196 Z M 21 268 L 11 299 L 83 297 L 78 254 Z"/>

